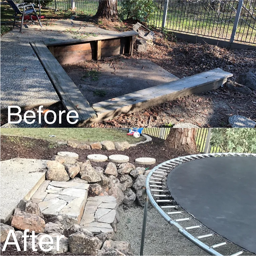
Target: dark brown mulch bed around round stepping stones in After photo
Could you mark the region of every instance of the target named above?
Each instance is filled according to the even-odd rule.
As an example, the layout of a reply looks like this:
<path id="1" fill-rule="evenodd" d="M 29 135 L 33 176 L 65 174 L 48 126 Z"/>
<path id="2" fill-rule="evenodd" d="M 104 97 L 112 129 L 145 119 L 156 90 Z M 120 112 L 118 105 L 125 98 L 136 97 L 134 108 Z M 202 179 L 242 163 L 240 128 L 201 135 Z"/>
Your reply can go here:
<path id="1" fill-rule="evenodd" d="M 138 157 L 153 157 L 156 159 L 156 163 L 153 165 L 146 165 L 144 167 L 152 168 L 168 159 L 178 157 L 181 155 L 187 155 L 185 152 L 180 152 L 168 148 L 164 144 L 164 140 L 158 138 L 152 138 L 152 141 L 148 143 L 139 144 L 135 147 L 126 149 L 125 151 L 118 150 L 80 150 L 69 147 L 67 145 L 59 145 L 49 143 L 45 140 L 31 139 L 21 137 L 18 143 L 13 142 L 8 136 L 1 136 L 1 161 L 20 157 L 20 158 L 32 158 L 32 159 L 46 159 L 49 160 L 53 155 L 56 155 L 59 151 L 71 151 L 76 152 L 79 155 L 79 161 L 87 160 L 89 154 L 104 154 L 107 156 L 113 154 L 124 154 L 129 156 L 129 162 L 135 164 L 135 159 Z M 108 161 L 106 162 L 93 162 L 93 166 L 103 167 L 105 169 Z M 136 164 L 138 166 L 138 164 Z M 143 165 L 139 165 L 142 166 Z"/>

